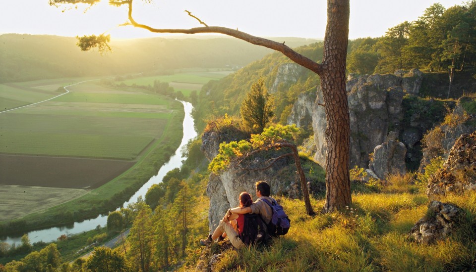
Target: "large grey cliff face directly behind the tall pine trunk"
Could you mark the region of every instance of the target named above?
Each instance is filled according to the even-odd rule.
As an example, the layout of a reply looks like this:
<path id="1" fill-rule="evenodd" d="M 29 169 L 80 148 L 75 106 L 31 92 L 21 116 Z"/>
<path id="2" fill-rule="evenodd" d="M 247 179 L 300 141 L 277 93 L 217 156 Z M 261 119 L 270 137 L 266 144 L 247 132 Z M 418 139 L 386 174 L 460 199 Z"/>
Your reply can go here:
<path id="1" fill-rule="evenodd" d="M 366 167 L 368 154 L 385 141 L 390 127 L 398 127 L 403 118 L 402 100 L 405 92 L 417 93 L 421 87 L 422 73 L 413 69 L 409 73 L 370 75 L 353 78 L 347 82 L 349 115 L 351 123 L 350 165 Z M 325 130 L 322 91 L 318 88 L 312 113 L 312 126 L 317 152 L 314 159 L 325 165 Z M 398 134 L 400 132 L 397 132 Z"/>

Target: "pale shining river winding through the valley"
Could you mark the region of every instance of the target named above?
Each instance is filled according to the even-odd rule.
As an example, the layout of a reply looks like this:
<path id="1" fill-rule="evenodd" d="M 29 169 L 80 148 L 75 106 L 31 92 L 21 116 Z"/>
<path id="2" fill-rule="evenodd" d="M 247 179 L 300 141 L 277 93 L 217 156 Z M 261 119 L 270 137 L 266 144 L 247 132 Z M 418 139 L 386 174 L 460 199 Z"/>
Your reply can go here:
<path id="1" fill-rule="evenodd" d="M 182 147 L 187 144 L 188 140 L 194 138 L 197 136 L 197 132 L 195 131 L 195 122 L 191 116 L 192 113 L 192 104 L 189 102 L 184 102 L 180 101 L 183 104 L 183 108 L 185 110 L 185 118 L 183 119 L 183 137 L 182 141 L 180 143 L 179 148 L 175 151 L 175 153 L 170 157 L 170 160 L 165 163 L 160 169 L 159 172 L 157 173 L 156 176 L 152 177 L 147 181 L 140 189 L 135 192 L 133 196 L 129 198 L 128 201 L 124 202 L 122 205 L 123 207 L 126 207 L 127 204 L 133 203 L 137 201 L 137 198 L 139 196 L 145 196 L 145 193 L 147 190 L 152 186 L 152 184 L 162 182 L 162 179 L 164 176 L 169 172 L 170 170 L 174 168 L 180 168 L 182 165 Z M 58 237 L 60 237 L 62 234 L 70 235 L 70 234 L 76 234 L 76 233 L 81 233 L 84 231 L 88 231 L 91 229 L 96 228 L 98 225 L 101 227 L 106 226 L 108 220 L 108 216 L 103 216 L 99 215 L 98 217 L 94 219 L 89 219 L 85 220 L 82 222 L 75 222 L 74 224 L 71 224 L 70 226 L 63 226 L 63 227 L 50 227 L 46 229 L 40 229 L 40 230 L 34 230 L 28 232 L 28 237 L 30 238 L 31 243 L 39 242 L 39 241 L 44 241 L 44 242 L 51 242 L 51 241 L 56 241 Z M 0 237 L 1 242 L 7 242 L 9 244 L 19 244 L 20 243 L 21 236 L 2 236 Z"/>

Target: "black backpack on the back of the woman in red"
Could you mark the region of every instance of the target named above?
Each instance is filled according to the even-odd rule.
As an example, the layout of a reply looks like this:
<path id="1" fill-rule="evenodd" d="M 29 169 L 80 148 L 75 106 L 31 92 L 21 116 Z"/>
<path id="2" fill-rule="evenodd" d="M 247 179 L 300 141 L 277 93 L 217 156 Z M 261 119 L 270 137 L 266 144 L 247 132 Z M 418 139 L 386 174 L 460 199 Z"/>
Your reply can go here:
<path id="1" fill-rule="evenodd" d="M 266 239 L 266 224 L 259 214 L 244 214 L 244 226 L 239 238 L 245 245 L 260 243 Z M 241 226 L 238 226 L 241 229 Z"/>

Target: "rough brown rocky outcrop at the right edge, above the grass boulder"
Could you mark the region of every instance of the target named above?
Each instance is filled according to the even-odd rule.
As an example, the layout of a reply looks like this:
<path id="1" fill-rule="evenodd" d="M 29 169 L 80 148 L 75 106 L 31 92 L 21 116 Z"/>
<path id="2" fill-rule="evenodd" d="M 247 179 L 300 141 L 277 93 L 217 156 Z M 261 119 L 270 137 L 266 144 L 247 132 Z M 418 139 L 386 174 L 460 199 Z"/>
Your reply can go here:
<path id="1" fill-rule="evenodd" d="M 428 181 L 428 199 L 438 199 L 446 192 L 476 190 L 476 132 L 456 140 L 443 167 Z"/>

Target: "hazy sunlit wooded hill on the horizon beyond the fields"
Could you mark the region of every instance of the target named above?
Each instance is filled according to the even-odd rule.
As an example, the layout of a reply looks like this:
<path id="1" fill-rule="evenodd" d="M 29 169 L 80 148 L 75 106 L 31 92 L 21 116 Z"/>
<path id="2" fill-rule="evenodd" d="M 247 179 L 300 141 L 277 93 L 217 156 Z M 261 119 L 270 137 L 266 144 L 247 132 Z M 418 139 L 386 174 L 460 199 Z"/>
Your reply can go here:
<path id="1" fill-rule="evenodd" d="M 289 46 L 316 40 L 273 38 Z M 76 39 L 48 35 L 0 35 L 0 83 L 37 79 L 161 73 L 183 68 L 239 68 L 271 50 L 221 37 L 148 38 L 111 42 L 112 53 L 83 52 Z"/>

